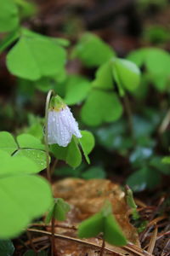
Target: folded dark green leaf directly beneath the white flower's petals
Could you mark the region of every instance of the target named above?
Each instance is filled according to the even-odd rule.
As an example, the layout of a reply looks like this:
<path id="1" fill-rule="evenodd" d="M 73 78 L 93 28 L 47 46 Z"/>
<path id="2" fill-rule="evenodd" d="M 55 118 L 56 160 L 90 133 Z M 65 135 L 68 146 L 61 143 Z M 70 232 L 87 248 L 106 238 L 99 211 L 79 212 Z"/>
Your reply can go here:
<path id="1" fill-rule="evenodd" d="M 60 147 L 57 144 L 51 145 L 51 152 L 58 160 L 65 160 L 65 162 L 76 168 L 80 166 L 82 162 L 82 154 L 78 148 L 78 142 L 76 137 L 72 137 L 71 143 L 67 147 Z"/>

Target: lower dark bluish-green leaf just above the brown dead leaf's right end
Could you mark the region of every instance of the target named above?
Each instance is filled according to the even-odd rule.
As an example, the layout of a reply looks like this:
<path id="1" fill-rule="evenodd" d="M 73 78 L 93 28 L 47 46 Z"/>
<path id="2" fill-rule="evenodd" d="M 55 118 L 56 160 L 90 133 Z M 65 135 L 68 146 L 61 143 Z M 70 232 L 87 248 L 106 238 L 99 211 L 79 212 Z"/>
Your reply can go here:
<path id="1" fill-rule="evenodd" d="M 127 184 L 134 192 L 140 192 L 144 189 L 154 189 L 160 181 L 161 174 L 148 167 L 133 172 L 133 174 L 127 178 Z"/>

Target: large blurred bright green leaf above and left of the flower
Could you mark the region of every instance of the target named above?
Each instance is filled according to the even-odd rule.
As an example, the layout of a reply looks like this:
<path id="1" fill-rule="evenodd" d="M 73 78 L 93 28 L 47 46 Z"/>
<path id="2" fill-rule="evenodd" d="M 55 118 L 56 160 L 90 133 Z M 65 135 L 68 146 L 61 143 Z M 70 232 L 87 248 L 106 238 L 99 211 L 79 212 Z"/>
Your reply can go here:
<path id="1" fill-rule="evenodd" d="M 30 80 L 54 76 L 65 66 L 65 49 L 45 37 L 23 34 L 8 52 L 7 67 L 10 73 Z"/>

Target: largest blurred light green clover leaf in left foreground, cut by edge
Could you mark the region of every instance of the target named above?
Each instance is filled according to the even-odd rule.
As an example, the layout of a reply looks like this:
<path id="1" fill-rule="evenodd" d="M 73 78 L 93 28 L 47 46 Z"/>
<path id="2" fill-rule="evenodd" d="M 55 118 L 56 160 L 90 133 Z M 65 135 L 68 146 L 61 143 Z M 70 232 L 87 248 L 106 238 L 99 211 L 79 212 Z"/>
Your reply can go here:
<path id="1" fill-rule="evenodd" d="M 0 238 L 7 239 L 17 236 L 33 218 L 48 210 L 52 193 L 45 179 L 29 175 L 37 172 L 32 160 L 4 151 L 0 151 L 0 159 Z"/>

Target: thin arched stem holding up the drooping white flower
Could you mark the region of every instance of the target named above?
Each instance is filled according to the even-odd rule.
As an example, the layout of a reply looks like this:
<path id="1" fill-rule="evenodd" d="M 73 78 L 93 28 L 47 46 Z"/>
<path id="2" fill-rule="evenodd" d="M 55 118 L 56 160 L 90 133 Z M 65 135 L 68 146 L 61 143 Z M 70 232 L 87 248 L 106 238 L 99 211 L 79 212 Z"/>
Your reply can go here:
<path id="1" fill-rule="evenodd" d="M 51 96 L 54 94 L 54 90 L 49 90 L 48 91 L 48 96 L 46 99 L 46 105 L 45 105 L 45 137 L 44 137 L 44 142 L 45 142 L 45 151 L 46 151 L 46 161 L 47 161 L 47 177 L 49 183 L 51 182 L 51 173 L 50 173 L 50 168 L 49 168 L 49 147 L 48 147 L 48 108 L 49 108 L 49 102 L 51 99 Z"/>

